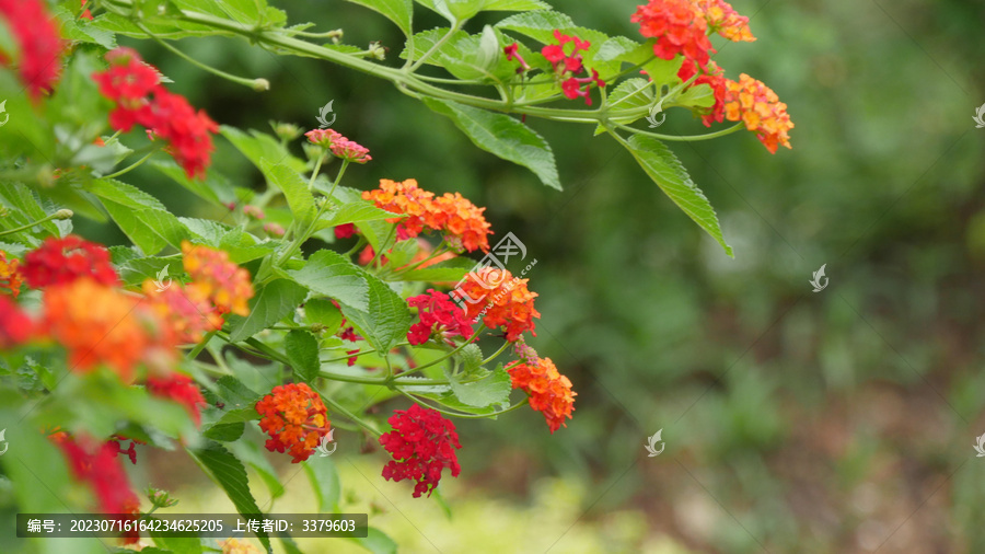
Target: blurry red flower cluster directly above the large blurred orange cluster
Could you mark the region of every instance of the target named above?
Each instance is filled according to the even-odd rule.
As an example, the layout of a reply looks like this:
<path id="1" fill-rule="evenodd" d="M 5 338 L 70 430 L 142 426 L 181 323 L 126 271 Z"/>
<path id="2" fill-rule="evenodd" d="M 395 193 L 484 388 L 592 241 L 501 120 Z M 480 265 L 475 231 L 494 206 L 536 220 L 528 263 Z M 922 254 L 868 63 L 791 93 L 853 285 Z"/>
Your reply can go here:
<path id="1" fill-rule="evenodd" d="M 109 264 L 109 251 L 74 234 L 45 239 L 38 249 L 24 256 L 21 273 L 33 289 L 66 285 L 82 277 L 106 286 L 119 282 Z"/>

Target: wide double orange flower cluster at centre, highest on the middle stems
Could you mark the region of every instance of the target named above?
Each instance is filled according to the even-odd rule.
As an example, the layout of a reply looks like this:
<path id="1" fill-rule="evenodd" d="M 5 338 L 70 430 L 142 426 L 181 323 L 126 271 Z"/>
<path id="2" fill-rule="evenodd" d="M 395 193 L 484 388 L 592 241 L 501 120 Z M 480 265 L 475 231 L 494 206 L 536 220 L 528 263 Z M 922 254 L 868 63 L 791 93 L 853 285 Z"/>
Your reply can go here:
<path id="1" fill-rule="evenodd" d="M 419 188 L 416 180 L 398 183 L 383 178 L 379 189 L 362 193 L 362 198 L 372 200 L 380 209 L 405 216 L 387 220 L 401 222 L 397 239 L 402 241 L 429 229 L 443 232 L 449 246 L 460 252 L 463 249 L 489 252 L 488 235 L 493 232 L 483 217 L 486 208 L 476 207 L 459 193 L 434 198 L 434 193 Z"/>

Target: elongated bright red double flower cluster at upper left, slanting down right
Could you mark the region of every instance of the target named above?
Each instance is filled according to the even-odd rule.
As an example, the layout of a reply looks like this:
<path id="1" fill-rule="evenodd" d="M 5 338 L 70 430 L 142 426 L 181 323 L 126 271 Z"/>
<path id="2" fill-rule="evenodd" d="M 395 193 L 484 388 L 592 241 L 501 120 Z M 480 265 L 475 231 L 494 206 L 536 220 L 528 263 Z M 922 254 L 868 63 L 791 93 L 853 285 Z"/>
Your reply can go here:
<path id="1" fill-rule="evenodd" d="M 205 174 L 212 146 L 211 132 L 219 126 L 204 111 L 195 112 L 188 101 L 167 91 L 158 71 L 141 61 L 131 48 L 116 48 L 106 55 L 109 69 L 92 77 L 100 92 L 116 102 L 109 114 L 114 129 L 129 131 L 142 125 L 152 138 L 169 142 L 169 152 L 189 178 Z"/>

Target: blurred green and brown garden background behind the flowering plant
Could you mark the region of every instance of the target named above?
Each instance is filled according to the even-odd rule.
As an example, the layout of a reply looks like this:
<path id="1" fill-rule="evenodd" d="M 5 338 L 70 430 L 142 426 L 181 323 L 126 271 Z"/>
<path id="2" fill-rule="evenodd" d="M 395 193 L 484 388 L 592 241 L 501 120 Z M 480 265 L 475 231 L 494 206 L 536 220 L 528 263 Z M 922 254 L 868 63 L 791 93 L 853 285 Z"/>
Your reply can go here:
<path id="1" fill-rule="evenodd" d="M 275 3 L 293 23 L 343 27 L 346 43 L 381 41 L 386 62 L 398 62 L 398 31 L 368 10 Z M 637 36 L 637 2 L 553 3 L 587 26 Z M 451 519 L 438 501 L 384 482 L 380 452 L 343 439 L 333 457 L 346 505 L 370 510 L 404 551 L 985 552 L 985 460 L 972 449 L 985 432 L 985 129 L 972 122 L 985 102 L 985 5 L 733 5 L 758 41 L 717 42 L 715 60 L 788 104 L 793 150 L 770 155 L 748 132 L 671 147 L 717 208 L 734 259 L 589 126 L 528 122 L 555 150 L 558 193 L 371 77 L 242 42 L 177 43 L 271 82 L 254 93 L 151 42 L 129 43 L 222 124 L 316 127 L 334 101 L 334 127 L 373 154 L 348 172 L 349 186 L 414 177 L 461 192 L 537 259 L 528 276 L 543 315 L 531 344 L 575 383 L 567 428 L 551 436 L 530 411 L 461 423 L 462 476 L 442 481 Z M 419 11 L 415 26 L 440 24 Z M 680 111 L 661 128 L 703 130 Z M 246 159 L 218 142 L 216 165 L 259 186 Z M 129 181 L 173 210 L 208 215 L 153 170 L 138 171 Z M 125 242 L 115 229 L 77 229 Z M 822 264 L 830 286 L 813 293 Z M 658 429 L 665 450 L 648 458 Z M 187 485 L 176 454 L 162 455 L 152 473 Z M 281 468 L 285 478 L 296 471 Z M 275 506 L 312 509 L 305 484 L 290 481 Z M 186 486 L 182 508 L 215 507 L 206 490 Z"/>

